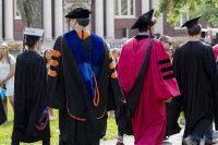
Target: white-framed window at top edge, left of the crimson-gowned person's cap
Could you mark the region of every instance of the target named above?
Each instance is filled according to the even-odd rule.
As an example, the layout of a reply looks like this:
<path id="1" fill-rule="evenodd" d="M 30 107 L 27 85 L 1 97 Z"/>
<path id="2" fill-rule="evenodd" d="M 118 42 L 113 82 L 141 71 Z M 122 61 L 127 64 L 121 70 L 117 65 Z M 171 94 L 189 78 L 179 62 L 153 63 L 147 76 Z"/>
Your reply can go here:
<path id="1" fill-rule="evenodd" d="M 135 17 L 135 0 L 114 0 L 116 17 Z"/>

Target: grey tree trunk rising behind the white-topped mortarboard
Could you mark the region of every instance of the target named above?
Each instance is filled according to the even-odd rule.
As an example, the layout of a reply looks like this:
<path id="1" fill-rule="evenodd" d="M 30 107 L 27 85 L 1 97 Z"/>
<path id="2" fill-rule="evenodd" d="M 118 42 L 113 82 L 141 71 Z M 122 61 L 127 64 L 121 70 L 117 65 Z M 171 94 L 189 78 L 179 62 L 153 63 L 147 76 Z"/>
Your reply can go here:
<path id="1" fill-rule="evenodd" d="M 43 0 L 17 0 L 25 26 L 43 28 Z"/>

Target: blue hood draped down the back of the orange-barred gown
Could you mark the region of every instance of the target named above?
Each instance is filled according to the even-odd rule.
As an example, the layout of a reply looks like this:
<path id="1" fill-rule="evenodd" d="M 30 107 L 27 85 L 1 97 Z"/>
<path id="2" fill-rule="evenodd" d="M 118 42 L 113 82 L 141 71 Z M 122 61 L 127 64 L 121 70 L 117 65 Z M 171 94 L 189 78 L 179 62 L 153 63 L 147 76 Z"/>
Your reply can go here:
<path id="1" fill-rule="evenodd" d="M 95 101 L 95 97 L 99 98 L 99 96 L 96 96 L 98 92 L 96 78 L 98 78 L 99 67 L 102 61 L 105 49 L 104 41 L 92 34 L 89 56 L 87 56 L 75 31 L 65 34 L 63 37 L 72 50 L 89 97 L 93 99 L 94 104 L 97 105 L 98 102 Z"/>

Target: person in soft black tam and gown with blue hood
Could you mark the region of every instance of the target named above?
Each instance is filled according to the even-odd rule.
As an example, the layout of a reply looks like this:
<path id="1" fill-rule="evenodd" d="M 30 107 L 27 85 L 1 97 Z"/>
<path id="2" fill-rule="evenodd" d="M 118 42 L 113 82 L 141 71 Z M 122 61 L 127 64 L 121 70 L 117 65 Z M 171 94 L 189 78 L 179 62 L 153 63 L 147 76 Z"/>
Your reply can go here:
<path id="1" fill-rule="evenodd" d="M 74 29 L 53 46 L 49 96 L 59 109 L 60 145 L 99 145 L 107 111 L 123 105 L 112 56 L 102 38 L 86 29 L 89 14 L 84 8 L 69 12 Z"/>

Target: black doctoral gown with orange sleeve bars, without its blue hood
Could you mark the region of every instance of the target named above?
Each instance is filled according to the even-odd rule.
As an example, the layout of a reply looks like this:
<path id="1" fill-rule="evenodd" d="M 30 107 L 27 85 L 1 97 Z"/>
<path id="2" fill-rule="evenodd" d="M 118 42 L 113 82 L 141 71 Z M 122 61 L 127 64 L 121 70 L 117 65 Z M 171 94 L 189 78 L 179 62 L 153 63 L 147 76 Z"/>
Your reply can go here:
<path id="1" fill-rule="evenodd" d="M 82 41 L 85 49 L 90 39 Z M 102 58 L 97 78 L 99 104 L 95 107 L 88 99 L 71 48 L 62 36 L 56 40 L 51 59 L 58 63 L 50 67 L 49 96 L 51 107 L 59 109 L 60 145 L 98 145 L 106 112 L 123 105 L 117 75 L 112 77 L 116 69 L 109 68 L 112 58 L 106 45 Z"/>

